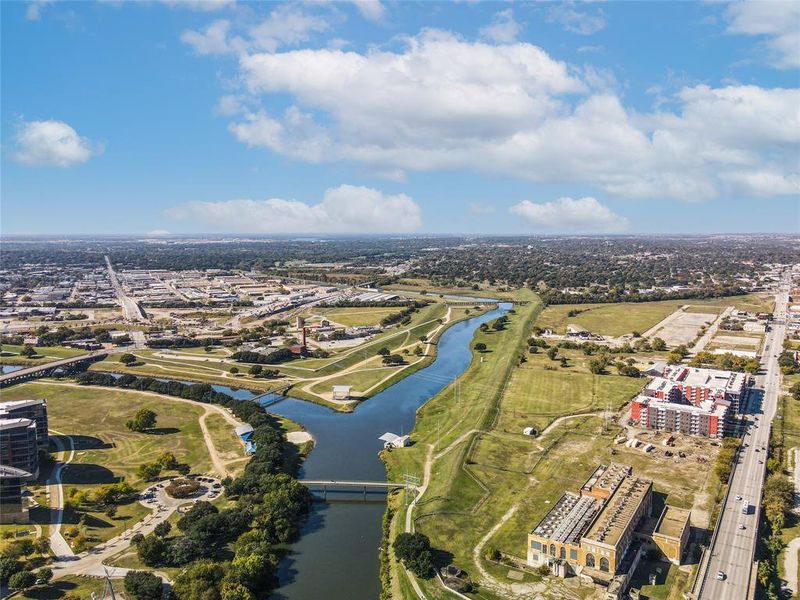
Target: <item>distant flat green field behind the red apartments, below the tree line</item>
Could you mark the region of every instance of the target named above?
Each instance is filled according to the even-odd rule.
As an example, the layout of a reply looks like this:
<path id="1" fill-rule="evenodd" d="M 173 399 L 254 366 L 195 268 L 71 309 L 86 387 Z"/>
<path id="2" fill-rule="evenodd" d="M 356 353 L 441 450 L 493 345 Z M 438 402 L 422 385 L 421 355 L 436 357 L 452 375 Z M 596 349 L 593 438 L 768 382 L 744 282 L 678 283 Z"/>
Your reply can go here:
<path id="1" fill-rule="evenodd" d="M 762 311 L 767 310 L 770 303 L 770 300 L 764 299 L 758 294 L 747 294 L 707 300 L 556 304 L 548 306 L 536 324 L 542 328 L 552 329 L 559 334 L 566 332 L 567 324 L 574 324 L 593 333 L 620 336 L 634 331 L 644 333 L 681 306 L 689 305 L 688 312 L 719 314 L 726 306 L 735 306 L 748 311 Z M 573 310 L 581 312 L 576 316 L 568 317 L 567 313 Z"/>

